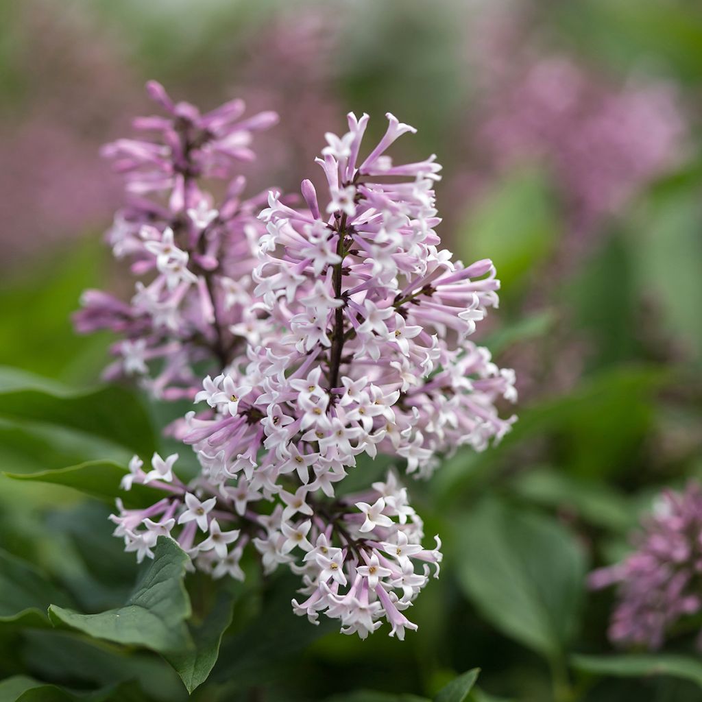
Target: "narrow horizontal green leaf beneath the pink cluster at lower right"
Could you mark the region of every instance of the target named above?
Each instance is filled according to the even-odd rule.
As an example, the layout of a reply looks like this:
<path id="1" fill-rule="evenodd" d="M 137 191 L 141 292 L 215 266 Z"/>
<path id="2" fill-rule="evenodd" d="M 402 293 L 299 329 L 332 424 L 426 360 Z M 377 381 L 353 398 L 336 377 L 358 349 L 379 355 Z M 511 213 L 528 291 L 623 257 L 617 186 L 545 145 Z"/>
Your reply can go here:
<path id="1" fill-rule="evenodd" d="M 621 656 L 571 656 L 578 670 L 615 677 L 670 675 L 702 687 L 702 661 L 675 654 L 625 654 Z"/>

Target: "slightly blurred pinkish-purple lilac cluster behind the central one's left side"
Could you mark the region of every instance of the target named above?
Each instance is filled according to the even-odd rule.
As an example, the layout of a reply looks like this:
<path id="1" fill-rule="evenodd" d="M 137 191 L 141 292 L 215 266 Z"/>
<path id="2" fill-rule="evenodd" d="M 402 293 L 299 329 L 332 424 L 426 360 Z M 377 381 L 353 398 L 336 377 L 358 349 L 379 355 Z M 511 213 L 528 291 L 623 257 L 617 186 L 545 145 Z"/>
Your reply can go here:
<path id="1" fill-rule="evenodd" d="M 135 375 L 157 397 L 192 399 L 201 377 L 194 366 L 216 371 L 230 363 L 259 314 L 251 272 L 265 199 L 245 199 L 246 180 L 234 171 L 254 158 L 253 133 L 277 115 L 241 119 L 241 100 L 200 114 L 154 81 L 147 91 L 168 117 L 136 119 L 135 128 L 150 136 L 119 139 L 103 153 L 124 173 L 127 192 L 107 239 L 114 256 L 131 260 L 133 274 L 150 279 L 137 282 L 130 303 L 86 291 L 75 322 L 81 332 L 124 336 L 107 378 Z M 218 204 L 204 190 L 209 180 L 227 183 Z"/>

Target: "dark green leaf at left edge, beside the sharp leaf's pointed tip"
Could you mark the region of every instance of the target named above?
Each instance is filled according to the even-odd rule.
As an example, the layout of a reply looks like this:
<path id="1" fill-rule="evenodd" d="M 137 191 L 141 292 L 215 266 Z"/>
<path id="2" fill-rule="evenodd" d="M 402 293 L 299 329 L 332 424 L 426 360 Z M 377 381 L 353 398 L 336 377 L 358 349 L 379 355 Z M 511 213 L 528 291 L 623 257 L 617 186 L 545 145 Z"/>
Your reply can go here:
<path id="1" fill-rule="evenodd" d="M 46 625 L 51 602 L 69 604 L 70 600 L 34 566 L 0 550 L 0 622 Z"/>

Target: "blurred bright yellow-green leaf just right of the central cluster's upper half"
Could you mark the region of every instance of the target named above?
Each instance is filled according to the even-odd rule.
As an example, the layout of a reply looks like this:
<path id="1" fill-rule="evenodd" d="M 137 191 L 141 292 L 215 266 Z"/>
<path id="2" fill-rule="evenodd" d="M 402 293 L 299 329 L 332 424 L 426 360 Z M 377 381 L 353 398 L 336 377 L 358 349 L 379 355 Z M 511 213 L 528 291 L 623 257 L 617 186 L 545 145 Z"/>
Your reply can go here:
<path id="1" fill-rule="evenodd" d="M 458 256 L 466 262 L 491 258 L 503 293 L 511 295 L 552 251 L 558 228 L 543 173 L 522 168 L 471 208 L 456 239 Z"/>

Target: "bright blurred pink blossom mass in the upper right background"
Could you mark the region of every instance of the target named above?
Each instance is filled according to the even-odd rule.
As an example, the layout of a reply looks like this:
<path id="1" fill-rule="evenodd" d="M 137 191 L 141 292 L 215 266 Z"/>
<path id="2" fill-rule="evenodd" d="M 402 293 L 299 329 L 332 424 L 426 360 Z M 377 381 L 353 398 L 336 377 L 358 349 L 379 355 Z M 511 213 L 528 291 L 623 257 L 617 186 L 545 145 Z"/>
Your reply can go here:
<path id="1" fill-rule="evenodd" d="M 567 200 L 571 227 L 582 235 L 673 168 L 686 131 L 665 81 L 616 88 L 553 55 L 492 75 L 475 135 L 497 168 L 545 159 Z"/>

